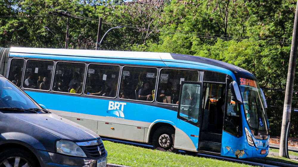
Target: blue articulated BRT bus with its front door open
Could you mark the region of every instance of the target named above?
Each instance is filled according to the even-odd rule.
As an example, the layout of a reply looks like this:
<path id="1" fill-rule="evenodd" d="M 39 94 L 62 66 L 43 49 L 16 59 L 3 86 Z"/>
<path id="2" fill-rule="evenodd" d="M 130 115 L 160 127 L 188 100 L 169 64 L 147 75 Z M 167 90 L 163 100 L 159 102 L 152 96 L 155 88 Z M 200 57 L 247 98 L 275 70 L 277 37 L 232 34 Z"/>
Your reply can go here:
<path id="1" fill-rule="evenodd" d="M 100 136 L 170 152 L 268 155 L 265 97 L 237 66 L 153 52 L 12 47 L 0 55 L 11 82 Z"/>

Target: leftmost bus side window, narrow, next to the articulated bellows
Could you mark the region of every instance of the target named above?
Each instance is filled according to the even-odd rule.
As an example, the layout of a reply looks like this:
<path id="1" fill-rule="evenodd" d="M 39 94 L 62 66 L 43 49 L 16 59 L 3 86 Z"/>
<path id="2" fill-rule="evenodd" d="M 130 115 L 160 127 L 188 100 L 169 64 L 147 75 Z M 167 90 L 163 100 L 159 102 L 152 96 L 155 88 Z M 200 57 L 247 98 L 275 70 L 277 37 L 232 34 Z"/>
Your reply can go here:
<path id="1" fill-rule="evenodd" d="M 24 59 L 12 59 L 10 62 L 8 79 L 18 87 L 21 87 L 24 65 Z"/>

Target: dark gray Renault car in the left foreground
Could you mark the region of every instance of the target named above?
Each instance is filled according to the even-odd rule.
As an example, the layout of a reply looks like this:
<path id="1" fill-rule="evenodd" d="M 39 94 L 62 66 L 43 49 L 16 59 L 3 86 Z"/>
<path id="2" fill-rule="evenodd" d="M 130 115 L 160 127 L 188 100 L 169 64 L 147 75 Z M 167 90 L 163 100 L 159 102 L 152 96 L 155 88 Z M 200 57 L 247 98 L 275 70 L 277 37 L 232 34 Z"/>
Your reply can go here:
<path id="1" fill-rule="evenodd" d="M 0 167 L 104 167 L 106 156 L 96 133 L 49 113 L 0 76 Z"/>

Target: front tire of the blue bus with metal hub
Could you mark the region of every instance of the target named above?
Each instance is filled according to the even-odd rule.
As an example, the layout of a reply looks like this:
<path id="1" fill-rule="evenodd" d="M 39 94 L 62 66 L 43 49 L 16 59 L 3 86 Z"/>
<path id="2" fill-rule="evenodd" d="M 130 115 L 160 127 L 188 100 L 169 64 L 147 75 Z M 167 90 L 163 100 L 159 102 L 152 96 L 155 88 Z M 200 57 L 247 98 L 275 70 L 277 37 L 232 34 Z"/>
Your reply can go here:
<path id="1" fill-rule="evenodd" d="M 174 149 L 175 130 L 171 127 L 158 128 L 152 137 L 153 147 L 164 152 L 178 152 Z"/>

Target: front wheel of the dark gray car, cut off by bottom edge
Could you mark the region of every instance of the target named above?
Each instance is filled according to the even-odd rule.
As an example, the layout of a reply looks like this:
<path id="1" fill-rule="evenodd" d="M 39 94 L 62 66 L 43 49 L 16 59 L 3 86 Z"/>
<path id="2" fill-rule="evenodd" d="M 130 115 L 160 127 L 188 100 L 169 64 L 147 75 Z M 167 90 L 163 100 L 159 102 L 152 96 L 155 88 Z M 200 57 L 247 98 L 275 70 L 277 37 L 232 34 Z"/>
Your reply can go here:
<path id="1" fill-rule="evenodd" d="M 17 162 L 18 164 L 15 164 Z M 27 165 L 25 165 L 27 164 Z M 0 166 L 29 166 L 39 167 L 36 157 L 22 149 L 7 149 L 0 152 Z"/>

